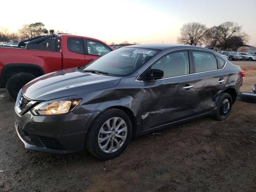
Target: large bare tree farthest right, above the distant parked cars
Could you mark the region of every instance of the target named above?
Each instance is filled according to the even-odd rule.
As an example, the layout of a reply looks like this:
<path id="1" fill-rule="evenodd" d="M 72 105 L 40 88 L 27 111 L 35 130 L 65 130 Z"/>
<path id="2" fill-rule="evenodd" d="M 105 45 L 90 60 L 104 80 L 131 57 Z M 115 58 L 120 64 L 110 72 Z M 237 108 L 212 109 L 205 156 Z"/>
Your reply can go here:
<path id="1" fill-rule="evenodd" d="M 241 32 L 242 26 L 239 26 L 234 22 L 224 22 L 218 26 L 218 30 L 220 32 L 219 43 L 224 48 L 234 46 L 235 44 L 233 43 L 237 42 L 238 39 L 242 41 L 243 44 L 249 40 L 249 36 L 246 33 Z"/>

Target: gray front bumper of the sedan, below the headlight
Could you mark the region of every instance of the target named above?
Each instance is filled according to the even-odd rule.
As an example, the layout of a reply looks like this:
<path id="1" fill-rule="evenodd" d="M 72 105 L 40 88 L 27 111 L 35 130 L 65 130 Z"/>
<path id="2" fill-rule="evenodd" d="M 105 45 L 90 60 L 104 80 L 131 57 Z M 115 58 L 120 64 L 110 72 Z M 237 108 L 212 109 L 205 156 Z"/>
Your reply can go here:
<path id="1" fill-rule="evenodd" d="M 56 116 L 18 114 L 15 108 L 15 129 L 25 148 L 41 152 L 67 154 L 84 150 L 88 128 L 98 112 Z"/>

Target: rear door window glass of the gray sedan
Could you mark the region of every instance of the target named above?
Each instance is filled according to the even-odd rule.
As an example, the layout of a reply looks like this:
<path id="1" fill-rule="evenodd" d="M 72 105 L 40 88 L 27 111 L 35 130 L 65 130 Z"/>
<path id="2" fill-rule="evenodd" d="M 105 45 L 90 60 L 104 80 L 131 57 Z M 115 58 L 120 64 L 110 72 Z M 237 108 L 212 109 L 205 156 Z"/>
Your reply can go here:
<path id="1" fill-rule="evenodd" d="M 213 54 L 193 51 L 196 73 L 218 69 L 217 60 Z"/>

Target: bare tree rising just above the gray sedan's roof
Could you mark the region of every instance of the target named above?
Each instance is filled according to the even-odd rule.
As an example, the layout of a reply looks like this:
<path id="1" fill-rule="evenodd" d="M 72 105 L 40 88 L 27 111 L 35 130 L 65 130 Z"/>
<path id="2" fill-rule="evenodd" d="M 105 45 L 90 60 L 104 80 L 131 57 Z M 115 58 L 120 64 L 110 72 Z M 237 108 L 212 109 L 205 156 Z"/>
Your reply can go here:
<path id="1" fill-rule="evenodd" d="M 206 26 L 198 22 L 186 23 L 180 28 L 180 44 L 198 45 L 202 44 L 205 38 Z"/>

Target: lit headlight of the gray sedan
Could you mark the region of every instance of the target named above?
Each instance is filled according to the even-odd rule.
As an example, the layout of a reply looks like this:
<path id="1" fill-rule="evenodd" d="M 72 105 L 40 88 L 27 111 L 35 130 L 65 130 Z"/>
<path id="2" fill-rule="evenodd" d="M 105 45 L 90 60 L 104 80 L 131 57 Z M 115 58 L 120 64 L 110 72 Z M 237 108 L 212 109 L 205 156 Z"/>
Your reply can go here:
<path id="1" fill-rule="evenodd" d="M 80 103 L 81 99 L 70 100 L 52 100 L 42 102 L 36 106 L 32 112 L 35 115 L 60 115 L 70 112 L 75 106 Z"/>

